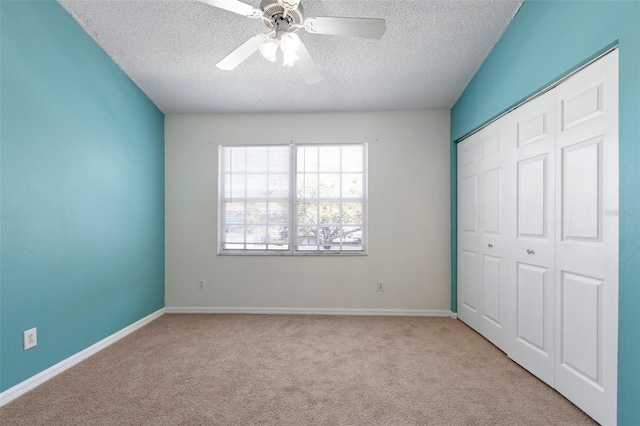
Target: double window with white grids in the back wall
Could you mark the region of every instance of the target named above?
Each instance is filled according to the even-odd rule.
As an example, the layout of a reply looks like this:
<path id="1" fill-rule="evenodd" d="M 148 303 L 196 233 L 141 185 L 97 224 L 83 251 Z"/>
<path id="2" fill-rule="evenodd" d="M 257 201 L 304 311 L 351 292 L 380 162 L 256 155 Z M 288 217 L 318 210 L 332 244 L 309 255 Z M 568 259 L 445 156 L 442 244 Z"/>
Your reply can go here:
<path id="1" fill-rule="evenodd" d="M 365 252 L 366 145 L 220 147 L 221 254 Z"/>

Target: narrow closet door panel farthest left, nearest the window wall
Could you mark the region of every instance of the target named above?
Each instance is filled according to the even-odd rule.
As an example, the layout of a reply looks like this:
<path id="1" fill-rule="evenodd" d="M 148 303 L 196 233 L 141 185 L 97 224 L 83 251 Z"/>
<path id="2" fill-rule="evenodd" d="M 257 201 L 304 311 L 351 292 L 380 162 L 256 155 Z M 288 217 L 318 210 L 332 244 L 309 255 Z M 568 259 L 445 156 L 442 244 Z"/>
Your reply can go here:
<path id="1" fill-rule="evenodd" d="M 473 135 L 458 144 L 458 318 L 480 326 L 479 146 Z"/>

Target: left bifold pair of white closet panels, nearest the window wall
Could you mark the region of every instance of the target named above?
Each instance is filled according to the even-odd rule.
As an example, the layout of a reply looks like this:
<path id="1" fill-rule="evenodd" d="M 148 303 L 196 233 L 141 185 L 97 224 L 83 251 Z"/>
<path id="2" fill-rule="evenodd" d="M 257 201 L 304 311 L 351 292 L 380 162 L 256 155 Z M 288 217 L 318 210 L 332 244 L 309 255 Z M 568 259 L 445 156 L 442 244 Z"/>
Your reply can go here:
<path id="1" fill-rule="evenodd" d="M 507 349 L 507 238 L 513 227 L 505 184 L 513 179 L 512 129 L 493 123 L 458 145 L 459 317 Z"/>

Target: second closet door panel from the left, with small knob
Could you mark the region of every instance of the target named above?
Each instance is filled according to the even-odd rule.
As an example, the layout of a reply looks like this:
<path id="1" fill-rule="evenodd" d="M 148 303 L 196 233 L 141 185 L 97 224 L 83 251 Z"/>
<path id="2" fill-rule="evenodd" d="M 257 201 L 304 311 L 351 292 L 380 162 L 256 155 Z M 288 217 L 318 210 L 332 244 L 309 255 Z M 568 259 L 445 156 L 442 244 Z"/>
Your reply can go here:
<path id="1" fill-rule="evenodd" d="M 507 294 L 513 208 L 505 197 L 512 180 L 513 126 L 508 117 L 479 132 L 480 143 L 480 334 L 507 351 Z"/>

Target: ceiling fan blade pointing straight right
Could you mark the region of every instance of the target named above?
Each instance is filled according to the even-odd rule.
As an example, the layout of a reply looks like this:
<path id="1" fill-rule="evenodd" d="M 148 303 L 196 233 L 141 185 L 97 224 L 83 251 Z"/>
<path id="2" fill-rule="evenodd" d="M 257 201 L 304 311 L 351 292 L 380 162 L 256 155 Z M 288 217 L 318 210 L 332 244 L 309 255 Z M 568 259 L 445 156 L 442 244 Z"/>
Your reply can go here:
<path id="1" fill-rule="evenodd" d="M 376 18 L 307 18 L 304 28 L 315 34 L 380 38 L 387 30 L 384 19 Z"/>

